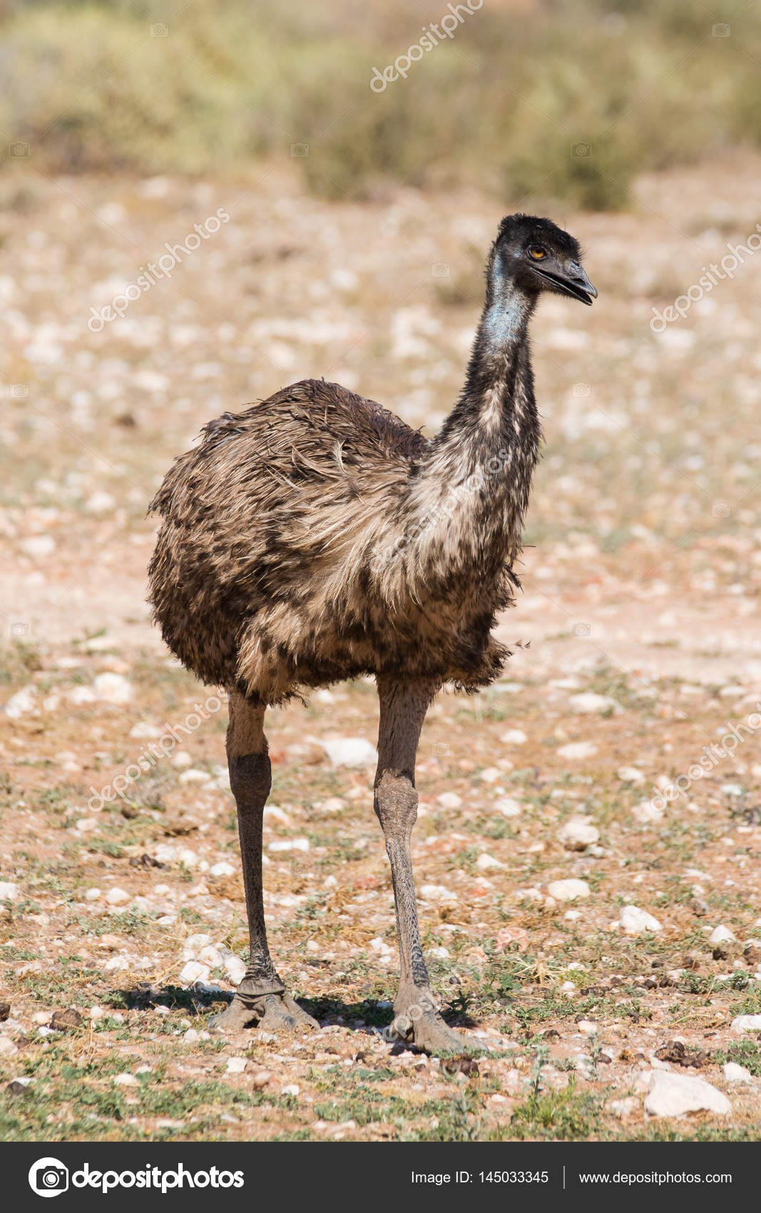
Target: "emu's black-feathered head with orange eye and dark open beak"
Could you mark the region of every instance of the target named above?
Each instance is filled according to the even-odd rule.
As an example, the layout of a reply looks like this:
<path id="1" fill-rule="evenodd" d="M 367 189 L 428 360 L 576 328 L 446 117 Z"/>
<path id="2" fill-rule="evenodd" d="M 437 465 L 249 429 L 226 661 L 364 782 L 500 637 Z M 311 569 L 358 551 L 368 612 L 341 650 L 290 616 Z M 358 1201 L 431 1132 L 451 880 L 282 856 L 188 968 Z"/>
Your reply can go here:
<path id="1" fill-rule="evenodd" d="M 499 224 L 490 255 L 490 302 L 515 292 L 536 302 L 542 291 L 551 291 L 591 304 L 597 292 L 580 258 L 578 241 L 551 220 L 508 215 Z"/>

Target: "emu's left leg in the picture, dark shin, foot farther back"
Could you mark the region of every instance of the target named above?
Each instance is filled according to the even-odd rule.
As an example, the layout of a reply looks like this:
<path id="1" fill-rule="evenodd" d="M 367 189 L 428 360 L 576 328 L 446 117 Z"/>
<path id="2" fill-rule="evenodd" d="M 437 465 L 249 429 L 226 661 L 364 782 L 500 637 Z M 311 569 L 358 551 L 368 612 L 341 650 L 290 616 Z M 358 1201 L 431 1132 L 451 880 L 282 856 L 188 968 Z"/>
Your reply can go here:
<path id="1" fill-rule="evenodd" d="M 251 957 L 233 1002 L 227 1010 L 210 1020 L 210 1027 L 221 1032 L 234 1032 L 254 1021 L 259 1027 L 270 1030 L 292 1031 L 299 1026 L 319 1026 L 286 993 L 267 946 L 262 895 L 262 825 L 264 803 L 271 787 L 271 767 L 263 724 L 264 708 L 251 707 L 241 695 L 231 691 L 227 736 L 228 769 L 238 807 Z"/>

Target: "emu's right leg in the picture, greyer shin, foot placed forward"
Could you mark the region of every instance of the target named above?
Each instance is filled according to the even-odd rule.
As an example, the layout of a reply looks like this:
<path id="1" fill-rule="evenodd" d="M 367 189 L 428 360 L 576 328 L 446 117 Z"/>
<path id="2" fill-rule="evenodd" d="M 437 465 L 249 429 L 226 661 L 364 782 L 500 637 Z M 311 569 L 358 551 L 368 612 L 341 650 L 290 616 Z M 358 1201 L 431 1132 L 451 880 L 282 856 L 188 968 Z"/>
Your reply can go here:
<path id="1" fill-rule="evenodd" d="M 401 979 L 394 1000 L 394 1031 L 429 1053 L 462 1053 L 467 1042 L 441 1019 L 430 990 L 418 930 L 410 850 L 412 826 L 418 815 L 414 759 L 425 712 L 436 690 L 437 684 L 430 682 L 378 679 L 380 727 L 374 810 L 385 837 L 396 905 Z"/>

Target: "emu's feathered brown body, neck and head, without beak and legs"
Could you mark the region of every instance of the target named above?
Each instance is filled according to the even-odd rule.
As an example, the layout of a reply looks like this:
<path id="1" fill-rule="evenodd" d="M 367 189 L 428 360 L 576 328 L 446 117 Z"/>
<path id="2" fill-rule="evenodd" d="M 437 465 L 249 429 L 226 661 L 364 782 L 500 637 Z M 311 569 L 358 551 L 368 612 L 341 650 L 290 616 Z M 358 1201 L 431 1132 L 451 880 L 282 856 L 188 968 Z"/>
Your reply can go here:
<path id="1" fill-rule="evenodd" d="M 151 507 L 150 600 L 201 679 L 258 705 L 360 674 L 467 690 L 499 674 L 509 654 L 491 633 L 517 585 L 540 442 L 527 326 L 553 283 L 526 264 L 538 238 L 576 266 L 578 245 L 549 221 L 504 221 L 436 438 L 304 380 L 210 422 L 174 462 Z"/>

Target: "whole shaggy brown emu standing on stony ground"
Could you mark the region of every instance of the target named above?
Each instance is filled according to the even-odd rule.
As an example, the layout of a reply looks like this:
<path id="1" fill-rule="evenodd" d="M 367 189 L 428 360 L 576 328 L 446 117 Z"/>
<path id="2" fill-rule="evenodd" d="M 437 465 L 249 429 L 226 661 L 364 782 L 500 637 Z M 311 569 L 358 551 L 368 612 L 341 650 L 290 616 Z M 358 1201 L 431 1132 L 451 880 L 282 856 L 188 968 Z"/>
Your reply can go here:
<path id="1" fill-rule="evenodd" d="M 597 294 L 568 233 L 508 216 L 488 255 L 465 383 L 435 438 L 337 383 L 305 380 L 211 421 L 151 503 L 162 517 L 149 568 L 154 620 L 190 671 L 229 694 L 251 959 L 212 1021 L 219 1031 L 316 1026 L 267 944 L 264 713 L 371 674 L 380 701 L 374 811 L 401 961 L 394 1029 L 419 1049 L 462 1052 L 463 1037 L 437 1012 L 418 933 L 414 763 L 442 684 L 487 687 L 510 655 L 492 630 L 519 586 L 540 443 L 528 321 L 542 291 L 588 304 Z"/>

